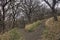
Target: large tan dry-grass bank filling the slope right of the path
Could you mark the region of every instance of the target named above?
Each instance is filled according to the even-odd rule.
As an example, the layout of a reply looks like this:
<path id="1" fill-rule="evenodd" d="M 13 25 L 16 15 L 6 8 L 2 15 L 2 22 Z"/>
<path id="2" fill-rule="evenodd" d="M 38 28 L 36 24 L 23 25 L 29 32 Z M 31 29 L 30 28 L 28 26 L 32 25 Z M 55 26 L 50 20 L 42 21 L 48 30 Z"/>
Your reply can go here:
<path id="1" fill-rule="evenodd" d="M 58 40 L 60 39 L 60 16 L 58 21 L 54 21 L 53 17 L 45 22 L 45 30 L 43 31 L 42 40 Z"/>

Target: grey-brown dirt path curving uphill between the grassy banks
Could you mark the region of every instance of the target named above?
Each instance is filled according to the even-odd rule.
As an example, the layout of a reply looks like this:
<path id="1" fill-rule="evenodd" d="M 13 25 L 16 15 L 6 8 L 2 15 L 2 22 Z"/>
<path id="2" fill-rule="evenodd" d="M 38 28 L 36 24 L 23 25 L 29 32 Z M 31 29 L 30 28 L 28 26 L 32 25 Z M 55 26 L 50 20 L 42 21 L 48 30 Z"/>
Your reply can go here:
<path id="1" fill-rule="evenodd" d="M 20 29 L 20 32 L 23 33 L 25 40 L 41 40 L 42 32 L 45 28 L 45 20 L 41 22 L 39 27 L 35 31 L 27 32 L 25 29 Z"/>

